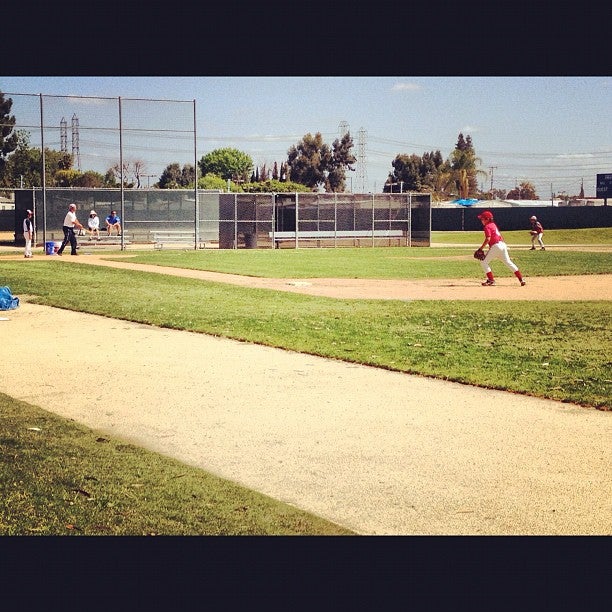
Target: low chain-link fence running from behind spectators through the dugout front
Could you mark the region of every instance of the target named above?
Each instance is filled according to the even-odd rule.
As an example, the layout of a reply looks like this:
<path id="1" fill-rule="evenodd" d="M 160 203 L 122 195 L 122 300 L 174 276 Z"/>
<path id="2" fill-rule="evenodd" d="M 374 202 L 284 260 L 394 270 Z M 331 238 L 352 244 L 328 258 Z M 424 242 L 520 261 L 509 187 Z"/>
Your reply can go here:
<path id="1" fill-rule="evenodd" d="M 44 197 L 43 197 L 44 195 Z M 429 194 L 226 194 L 181 189 L 123 191 L 122 235 L 108 236 L 104 220 L 119 211 L 117 189 L 15 190 L 15 238 L 23 241 L 25 211 L 34 211 L 40 242 L 61 240 L 72 203 L 87 225 L 95 210 L 101 244 L 123 249 L 153 244 L 158 248 L 299 248 L 342 246 L 429 246 Z M 40 236 L 40 220 L 45 235 Z M 88 239 L 91 237 L 88 237 Z"/>

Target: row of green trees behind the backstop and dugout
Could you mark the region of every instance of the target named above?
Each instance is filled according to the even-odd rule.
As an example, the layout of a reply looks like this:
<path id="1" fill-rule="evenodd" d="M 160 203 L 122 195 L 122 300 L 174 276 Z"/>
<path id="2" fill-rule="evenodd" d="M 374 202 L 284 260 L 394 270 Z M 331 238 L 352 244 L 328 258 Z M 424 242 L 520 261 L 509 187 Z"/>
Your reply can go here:
<path id="1" fill-rule="evenodd" d="M 42 153 L 32 147 L 29 133 L 16 130 L 11 115 L 12 100 L 0 91 L 0 188 L 30 188 L 42 185 Z M 346 191 L 347 172 L 355 171 L 357 158 L 350 132 L 328 145 L 320 132 L 308 133 L 287 151 L 287 159 L 256 166 L 247 153 L 231 147 L 215 149 L 197 162 L 198 188 L 235 192 Z M 471 136 L 459 134 L 447 159 L 440 151 L 398 154 L 391 162 L 383 192 L 431 193 L 434 200 L 452 198 L 537 199 L 531 183 L 524 182 L 509 192 L 478 189 L 481 160 Z M 105 174 L 74 169 L 73 155 L 45 147 L 45 184 L 50 187 L 144 187 L 146 164 L 140 159 L 114 164 Z M 193 164 L 173 162 L 166 166 L 152 186 L 157 189 L 193 188 Z"/>

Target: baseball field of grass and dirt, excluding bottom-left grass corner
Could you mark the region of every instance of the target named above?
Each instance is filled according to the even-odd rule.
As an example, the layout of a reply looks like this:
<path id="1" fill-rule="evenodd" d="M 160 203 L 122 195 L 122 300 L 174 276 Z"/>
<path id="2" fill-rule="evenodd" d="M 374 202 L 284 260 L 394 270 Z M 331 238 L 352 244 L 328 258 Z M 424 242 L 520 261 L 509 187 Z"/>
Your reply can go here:
<path id="1" fill-rule="evenodd" d="M 612 234 L 551 231 L 546 252 L 523 234 L 507 240 L 525 287 L 501 262 L 480 285 L 475 236 L 6 253 L 21 305 L 0 323 L 0 392 L 356 533 L 609 534 Z M 539 501 L 526 515 L 517 495 Z"/>

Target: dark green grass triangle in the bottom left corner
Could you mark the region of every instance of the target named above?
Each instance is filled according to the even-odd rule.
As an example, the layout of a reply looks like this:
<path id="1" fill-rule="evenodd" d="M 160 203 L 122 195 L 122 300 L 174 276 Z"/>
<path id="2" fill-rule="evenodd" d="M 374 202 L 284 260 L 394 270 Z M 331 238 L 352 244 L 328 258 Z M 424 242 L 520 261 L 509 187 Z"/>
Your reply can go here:
<path id="1" fill-rule="evenodd" d="M 0 535 L 348 535 L 0 394 Z"/>

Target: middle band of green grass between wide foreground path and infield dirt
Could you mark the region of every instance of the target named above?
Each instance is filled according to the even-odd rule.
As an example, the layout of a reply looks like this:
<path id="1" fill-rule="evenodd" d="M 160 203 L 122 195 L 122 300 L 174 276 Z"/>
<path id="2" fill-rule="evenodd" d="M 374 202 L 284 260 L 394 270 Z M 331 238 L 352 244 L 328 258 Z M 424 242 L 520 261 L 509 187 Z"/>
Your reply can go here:
<path id="1" fill-rule="evenodd" d="M 3 275 L 40 304 L 611 407 L 609 301 L 335 300 L 57 260 Z"/>

